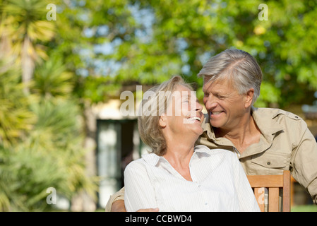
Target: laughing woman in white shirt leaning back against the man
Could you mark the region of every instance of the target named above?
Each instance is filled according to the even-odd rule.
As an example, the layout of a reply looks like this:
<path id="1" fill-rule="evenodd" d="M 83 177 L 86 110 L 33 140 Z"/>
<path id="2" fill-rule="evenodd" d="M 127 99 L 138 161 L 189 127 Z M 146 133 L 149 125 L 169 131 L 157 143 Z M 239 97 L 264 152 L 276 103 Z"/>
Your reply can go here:
<path id="1" fill-rule="evenodd" d="M 203 133 L 203 107 L 191 86 L 173 76 L 150 92 L 141 107 L 159 114 L 140 114 L 138 129 L 152 150 L 124 171 L 126 210 L 258 211 L 237 156 L 195 145 Z"/>

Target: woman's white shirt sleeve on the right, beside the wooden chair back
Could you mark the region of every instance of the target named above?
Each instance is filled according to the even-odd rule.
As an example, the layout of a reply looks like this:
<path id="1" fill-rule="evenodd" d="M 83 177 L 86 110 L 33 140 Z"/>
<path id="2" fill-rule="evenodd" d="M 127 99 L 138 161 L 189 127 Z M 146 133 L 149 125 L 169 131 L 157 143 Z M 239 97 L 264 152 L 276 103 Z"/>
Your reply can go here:
<path id="1" fill-rule="evenodd" d="M 260 211 L 256 197 L 254 196 L 249 180 L 246 177 L 246 173 L 244 172 L 244 169 L 242 168 L 241 163 L 235 154 L 232 154 L 232 165 L 234 169 L 234 184 L 237 189 L 240 211 Z"/>

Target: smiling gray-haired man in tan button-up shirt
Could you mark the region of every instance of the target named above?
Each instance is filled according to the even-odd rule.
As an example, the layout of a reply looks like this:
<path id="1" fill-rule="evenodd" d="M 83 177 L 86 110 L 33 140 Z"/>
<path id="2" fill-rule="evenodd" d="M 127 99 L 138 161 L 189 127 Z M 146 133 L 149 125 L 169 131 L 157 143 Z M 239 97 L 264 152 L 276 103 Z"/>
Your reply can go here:
<path id="1" fill-rule="evenodd" d="M 198 144 L 237 153 L 247 175 L 290 170 L 317 204 L 316 140 L 299 116 L 253 107 L 262 82 L 256 59 L 242 50 L 226 49 L 210 58 L 198 76 L 203 77 L 208 111 Z M 123 196 L 123 189 L 114 194 L 106 211 L 124 211 Z"/>

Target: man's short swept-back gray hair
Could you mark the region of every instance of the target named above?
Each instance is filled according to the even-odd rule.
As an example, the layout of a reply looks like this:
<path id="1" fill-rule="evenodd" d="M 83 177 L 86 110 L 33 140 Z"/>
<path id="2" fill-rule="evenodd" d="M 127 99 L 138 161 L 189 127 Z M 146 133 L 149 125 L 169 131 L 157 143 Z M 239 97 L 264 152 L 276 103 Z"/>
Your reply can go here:
<path id="1" fill-rule="evenodd" d="M 251 54 L 240 49 L 226 49 L 208 60 L 198 77 L 203 76 L 204 83 L 228 79 L 239 94 L 254 89 L 252 105 L 260 95 L 262 71 Z"/>

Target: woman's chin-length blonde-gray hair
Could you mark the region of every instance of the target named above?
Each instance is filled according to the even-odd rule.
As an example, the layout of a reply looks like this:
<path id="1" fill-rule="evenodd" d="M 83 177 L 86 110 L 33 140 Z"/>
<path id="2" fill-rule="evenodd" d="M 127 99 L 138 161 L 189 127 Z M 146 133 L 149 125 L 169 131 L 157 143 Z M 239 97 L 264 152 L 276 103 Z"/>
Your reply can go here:
<path id="1" fill-rule="evenodd" d="M 172 100 L 177 85 L 183 85 L 191 91 L 193 88 L 185 83 L 181 76 L 173 76 L 169 81 L 155 85 L 146 91 L 138 110 L 138 131 L 143 143 L 148 145 L 152 153 L 164 155 L 167 144 L 159 125 L 160 116 L 167 112 L 167 106 Z"/>

